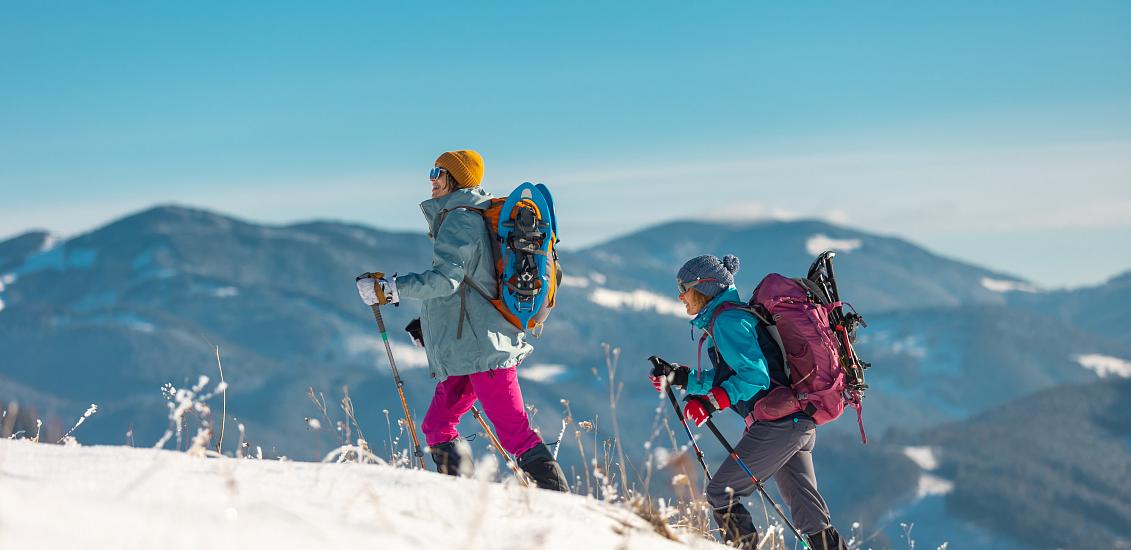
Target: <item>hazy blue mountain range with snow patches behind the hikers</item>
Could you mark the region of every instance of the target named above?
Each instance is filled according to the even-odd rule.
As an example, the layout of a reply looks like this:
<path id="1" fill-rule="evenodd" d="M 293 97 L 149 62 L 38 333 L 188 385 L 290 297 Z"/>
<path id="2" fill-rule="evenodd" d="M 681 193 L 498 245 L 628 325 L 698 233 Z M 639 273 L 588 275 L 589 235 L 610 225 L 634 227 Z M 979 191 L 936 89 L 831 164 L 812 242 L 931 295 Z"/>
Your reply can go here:
<path id="1" fill-rule="evenodd" d="M 601 343 L 610 342 L 621 350 L 620 429 L 629 462 L 641 463 L 658 403 L 644 379 L 645 358 L 696 361 L 688 318 L 675 300 L 679 266 L 699 253 L 734 253 L 742 259 L 740 290 L 749 295 L 766 273 L 801 276 L 815 252 L 830 248 L 839 251 L 844 298 L 870 324 L 860 350 L 874 364 L 864 419 L 873 442 L 853 441 L 855 419 L 821 430 L 819 473 L 835 519 L 875 526 L 877 541 L 897 541 L 906 516 L 946 526 L 952 548 L 1045 548 L 1026 526 L 1068 517 L 1078 502 L 1053 498 L 1024 518 L 1003 513 L 978 521 L 990 516 L 969 512 L 972 495 L 985 480 L 969 475 L 955 453 L 996 448 L 973 438 L 996 437 L 984 429 L 994 426 L 986 419 L 1018 403 L 1131 377 L 1131 341 L 1122 328 L 1131 275 L 1091 289 L 1042 292 L 1020 277 L 905 240 L 821 222 L 666 223 L 562 252 L 559 307 L 521 368 L 524 393 L 537 409 L 534 423 L 555 440 L 561 399 L 568 399 L 576 419 L 596 420 L 603 430 L 608 373 Z M 333 405 L 348 386 L 359 424 L 370 432 L 383 431 L 382 411 L 399 410 L 354 275 L 428 265 L 422 233 L 333 222 L 268 226 L 174 206 L 67 240 L 45 232 L 19 235 L 0 242 L 0 401 L 24 404 L 25 414 L 34 410 L 52 433 L 97 403 L 98 415 L 79 435 L 84 442 L 152 445 L 166 428 L 161 386 L 215 377 L 218 346 L 230 414 L 247 426 L 249 438 L 273 456 L 320 458 L 336 446 L 336 436 L 307 420 L 318 414 L 308 388 L 325 393 Z M 432 381 L 421 368 L 422 352 L 396 330 L 415 309 L 390 308 L 387 320 L 420 418 Z M 1010 412 L 1007 426 L 1039 437 L 1037 422 Z M 1123 438 L 1105 456 L 1114 453 L 1112 467 L 1131 478 L 1131 440 L 1119 431 L 1125 426 L 1088 422 L 1095 439 L 1104 430 Z M 470 421 L 464 427 L 475 431 Z M 737 424 L 729 427 L 736 436 Z M 1050 455 L 1079 454 L 1069 440 L 1044 445 Z M 717 464 L 723 456 L 709 447 Z M 1002 472 L 1016 464 L 1004 449 L 977 456 Z M 563 464 L 568 473 L 571 466 L 579 472 L 571 456 Z M 924 475 L 931 478 L 924 482 Z M 1131 499 L 1123 484 L 1065 475 L 1088 498 Z M 1041 491 L 1042 480 L 1019 478 L 1018 490 Z M 1131 536 L 1126 527 L 1105 528 L 1111 540 Z"/>

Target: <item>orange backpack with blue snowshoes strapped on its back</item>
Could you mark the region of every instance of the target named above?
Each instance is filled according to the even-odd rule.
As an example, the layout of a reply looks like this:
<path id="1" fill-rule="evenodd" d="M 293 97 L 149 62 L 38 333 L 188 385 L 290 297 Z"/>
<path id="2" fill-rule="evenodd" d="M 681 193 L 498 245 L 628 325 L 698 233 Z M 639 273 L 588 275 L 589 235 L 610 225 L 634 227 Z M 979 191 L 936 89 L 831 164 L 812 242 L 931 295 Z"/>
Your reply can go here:
<path id="1" fill-rule="evenodd" d="M 483 216 L 495 269 L 493 292 L 480 289 L 470 280 L 464 285 L 483 295 L 519 330 L 542 326 L 554 307 L 562 276 L 558 263 L 558 220 L 550 189 L 542 183 L 525 182 L 507 198 L 491 199 L 486 208 L 457 208 Z M 440 213 L 440 223 L 448 212 Z"/>

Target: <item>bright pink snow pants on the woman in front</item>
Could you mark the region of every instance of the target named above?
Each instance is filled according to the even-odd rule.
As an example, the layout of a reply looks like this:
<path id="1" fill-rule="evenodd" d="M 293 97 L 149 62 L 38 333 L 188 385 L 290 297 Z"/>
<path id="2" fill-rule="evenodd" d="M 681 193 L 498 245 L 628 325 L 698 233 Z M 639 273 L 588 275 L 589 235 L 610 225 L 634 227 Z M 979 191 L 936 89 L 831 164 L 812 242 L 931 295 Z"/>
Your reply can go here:
<path id="1" fill-rule="evenodd" d="M 526 416 L 523 390 L 518 387 L 518 369 L 515 367 L 450 376 L 437 384 L 432 404 L 421 423 L 424 440 L 431 446 L 459 437 L 456 426 L 472 410 L 475 399 L 483 404 L 483 412 L 494 424 L 499 442 L 511 455 L 520 456 L 542 442 Z"/>

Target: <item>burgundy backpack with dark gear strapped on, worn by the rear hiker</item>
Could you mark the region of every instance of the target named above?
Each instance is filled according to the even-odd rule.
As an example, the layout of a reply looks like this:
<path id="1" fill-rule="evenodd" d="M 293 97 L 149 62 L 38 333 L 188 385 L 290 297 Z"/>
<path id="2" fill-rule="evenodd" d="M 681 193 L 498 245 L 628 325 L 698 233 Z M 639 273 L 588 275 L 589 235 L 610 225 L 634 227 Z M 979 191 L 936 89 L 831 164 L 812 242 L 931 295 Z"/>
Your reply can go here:
<path id="1" fill-rule="evenodd" d="M 866 325 L 855 311 L 844 312 L 832 256 L 831 251 L 818 256 L 805 278 L 767 275 L 748 306 L 723 304 L 715 310 L 710 326 L 723 311 L 741 309 L 754 315 L 780 347 L 789 384 L 775 383 L 754 402 L 753 420 L 804 412 L 823 424 L 839 418 L 848 405 L 856 410 L 866 444 L 861 399 L 867 388 L 864 369 L 869 363 L 861 361 L 853 347 L 856 328 Z"/>

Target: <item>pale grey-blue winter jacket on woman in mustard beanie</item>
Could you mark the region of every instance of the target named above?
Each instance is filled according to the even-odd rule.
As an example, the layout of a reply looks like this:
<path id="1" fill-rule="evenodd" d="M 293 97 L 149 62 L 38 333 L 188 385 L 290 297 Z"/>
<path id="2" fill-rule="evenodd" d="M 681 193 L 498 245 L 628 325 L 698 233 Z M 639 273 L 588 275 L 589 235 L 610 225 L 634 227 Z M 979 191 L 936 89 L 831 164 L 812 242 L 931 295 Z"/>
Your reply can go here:
<path id="1" fill-rule="evenodd" d="M 491 195 L 474 188 L 421 203 L 434 246 L 432 268 L 396 278 L 402 299 L 423 301 L 424 351 L 432 377 L 440 380 L 515 367 L 534 351 L 526 335 L 467 284 L 495 293 L 494 257 L 483 216 L 458 209 L 486 208 L 490 201 Z M 448 214 L 438 227 L 442 210 Z"/>

